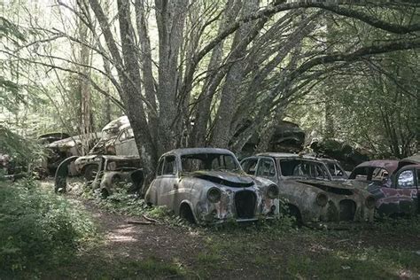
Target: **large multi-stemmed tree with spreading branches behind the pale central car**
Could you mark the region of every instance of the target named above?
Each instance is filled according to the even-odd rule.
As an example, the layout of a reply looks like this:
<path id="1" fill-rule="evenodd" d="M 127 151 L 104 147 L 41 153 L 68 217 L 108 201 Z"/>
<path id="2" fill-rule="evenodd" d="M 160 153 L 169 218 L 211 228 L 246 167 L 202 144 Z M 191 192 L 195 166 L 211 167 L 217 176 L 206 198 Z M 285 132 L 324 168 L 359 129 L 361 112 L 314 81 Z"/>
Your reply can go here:
<path id="1" fill-rule="evenodd" d="M 58 4 L 96 40 L 55 27 L 43 28 L 48 38 L 39 42 L 64 37 L 103 60 L 90 68 L 118 91 L 149 175 L 159 155 L 175 147 L 239 151 L 255 131 L 270 133 L 284 108 L 332 70 L 420 47 L 416 1 L 118 0 L 111 9 L 100 0 Z M 324 19 L 331 14 L 353 32 L 325 40 Z M 383 39 L 361 42 L 361 26 Z M 58 67 L 62 60 L 36 63 Z"/>

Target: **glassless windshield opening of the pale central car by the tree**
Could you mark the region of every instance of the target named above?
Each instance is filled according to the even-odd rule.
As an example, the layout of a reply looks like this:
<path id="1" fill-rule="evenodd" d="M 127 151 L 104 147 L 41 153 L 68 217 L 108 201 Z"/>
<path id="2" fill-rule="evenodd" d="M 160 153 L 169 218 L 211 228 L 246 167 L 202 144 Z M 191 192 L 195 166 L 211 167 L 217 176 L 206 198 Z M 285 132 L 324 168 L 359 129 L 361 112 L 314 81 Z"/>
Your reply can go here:
<path id="1" fill-rule="evenodd" d="M 198 153 L 181 156 L 183 172 L 195 172 L 199 170 L 218 170 L 237 172 L 240 167 L 237 160 L 229 154 Z"/>

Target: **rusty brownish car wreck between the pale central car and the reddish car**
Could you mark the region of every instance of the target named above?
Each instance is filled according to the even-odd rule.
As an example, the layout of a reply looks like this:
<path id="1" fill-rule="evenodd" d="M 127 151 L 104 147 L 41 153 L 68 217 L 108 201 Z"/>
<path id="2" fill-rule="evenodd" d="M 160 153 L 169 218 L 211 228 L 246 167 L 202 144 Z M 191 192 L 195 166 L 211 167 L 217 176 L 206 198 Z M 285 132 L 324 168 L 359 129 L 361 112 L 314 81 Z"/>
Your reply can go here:
<path id="1" fill-rule="evenodd" d="M 297 222 L 371 222 L 375 198 L 362 188 L 331 180 L 321 159 L 291 153 L 261 153 L 241 161 L 249 175 L 268 178 L 279 186 L 280 198 Z"/>

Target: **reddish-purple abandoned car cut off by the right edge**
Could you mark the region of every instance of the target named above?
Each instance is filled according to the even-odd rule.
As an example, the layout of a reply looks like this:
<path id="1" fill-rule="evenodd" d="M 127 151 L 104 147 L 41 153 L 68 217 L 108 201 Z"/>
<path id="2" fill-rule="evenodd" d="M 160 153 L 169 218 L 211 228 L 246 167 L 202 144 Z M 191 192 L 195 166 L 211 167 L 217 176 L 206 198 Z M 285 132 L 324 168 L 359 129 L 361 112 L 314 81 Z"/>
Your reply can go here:
<path id="1" fill-rule="evenodd" d="M 420 165 L 412 160 L 370 160 L 355 167 L 350 180 L 366 183 L 377 213 L 401 216 L 419 212 Z"/>

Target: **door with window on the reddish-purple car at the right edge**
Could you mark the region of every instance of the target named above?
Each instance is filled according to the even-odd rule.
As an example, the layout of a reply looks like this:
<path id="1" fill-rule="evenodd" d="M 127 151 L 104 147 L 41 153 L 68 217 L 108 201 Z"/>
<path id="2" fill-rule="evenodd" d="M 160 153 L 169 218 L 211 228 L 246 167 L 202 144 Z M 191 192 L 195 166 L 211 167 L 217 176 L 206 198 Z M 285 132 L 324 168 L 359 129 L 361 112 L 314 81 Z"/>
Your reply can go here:
<path id="1" fill-rule="evenodd" d="M 418 210 L 418 169 L 401 169 L 397 173 L 395 187 L 400 213 L 415 214 Z"/>

